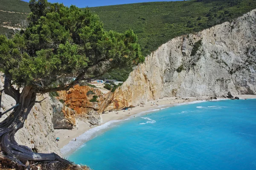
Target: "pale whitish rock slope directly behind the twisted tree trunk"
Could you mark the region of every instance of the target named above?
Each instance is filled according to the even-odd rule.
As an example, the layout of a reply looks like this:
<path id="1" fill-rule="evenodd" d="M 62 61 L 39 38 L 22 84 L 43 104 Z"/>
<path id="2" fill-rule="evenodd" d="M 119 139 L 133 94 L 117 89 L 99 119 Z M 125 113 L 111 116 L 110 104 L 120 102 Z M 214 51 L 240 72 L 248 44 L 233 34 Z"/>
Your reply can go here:
<path id="1" fill-rule="evenodd" d="M 0 89 L 3 88 L 4 77 L 0 72 Z M 48 94 L 37 96 L 40 101 L 44 98 L 49 99 Z M 18 144 L 25 145 L 35 152 L 61 154 L 57 144 L 55 143 L 55 133 L 52 124 L 52 106 L 49 100 L 36 103 L 30 111 L 24 127 L 17 131 L 15 139 Z M 6 111 L 15 105 L 15 100 L 3 93 L 1 111 Z M 7 115 L 0 118 L 0 122 L 5 119 Z"/>

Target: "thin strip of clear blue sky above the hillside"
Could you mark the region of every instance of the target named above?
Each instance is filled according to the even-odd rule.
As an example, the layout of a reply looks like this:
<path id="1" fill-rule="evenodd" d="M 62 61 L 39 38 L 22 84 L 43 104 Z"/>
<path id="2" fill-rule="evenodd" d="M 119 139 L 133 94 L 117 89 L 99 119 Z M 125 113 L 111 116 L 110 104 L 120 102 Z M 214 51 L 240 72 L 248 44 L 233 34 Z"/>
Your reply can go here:
<path id="1" fill-rule="evenodd" d="M 24 0 L 29 2 L 29 0 Z M 76 5 L 79 8 L 84 8 L 86 6 L 109 6 L 109 5 L 119 5 L 127 3 L 142 3 L 142 2 L 156 2 L 156 1 L 176 1 L 176 0 L 48 0 L 51 3 L 63 3 L 65 6 Z"/>

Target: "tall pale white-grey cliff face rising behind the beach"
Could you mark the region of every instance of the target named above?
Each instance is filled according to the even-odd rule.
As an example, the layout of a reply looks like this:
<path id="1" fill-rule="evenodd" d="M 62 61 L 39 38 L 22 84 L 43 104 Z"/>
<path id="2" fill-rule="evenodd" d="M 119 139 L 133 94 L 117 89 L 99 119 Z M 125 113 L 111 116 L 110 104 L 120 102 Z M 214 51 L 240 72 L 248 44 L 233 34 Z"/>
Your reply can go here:
<path id="1" fill-rule="evenodd" d="M 108 109 L 168 96 L 255 94 L 255 26 L 253 10 L 161 45 L 116 90 Z"/>

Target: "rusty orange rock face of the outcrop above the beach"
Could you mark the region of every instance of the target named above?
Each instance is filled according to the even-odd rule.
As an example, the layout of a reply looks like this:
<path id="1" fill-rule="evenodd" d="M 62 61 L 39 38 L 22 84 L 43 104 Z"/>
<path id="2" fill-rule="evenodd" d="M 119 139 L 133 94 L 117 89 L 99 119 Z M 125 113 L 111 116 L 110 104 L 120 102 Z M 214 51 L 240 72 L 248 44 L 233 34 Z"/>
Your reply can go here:
<path id="1" fill-rule="evenodd" d="M 94 94 L 87 95 L 88 91 L 92 91 Z M 86 114 L 91 110 L 99 110 L 105 98 L 104 94 L 102 94 L 99 89 L 79 85 L 75 85 L 74 88 L 71 88 L 69 91 L 58 91 L 58 94 L 58 99 L 64 100 L 65 105 L 76 111 L 78 115 Z M 98 102 L 90 102 L 90 99 L 93 99 L 94 95 L 98 96 Z"/>

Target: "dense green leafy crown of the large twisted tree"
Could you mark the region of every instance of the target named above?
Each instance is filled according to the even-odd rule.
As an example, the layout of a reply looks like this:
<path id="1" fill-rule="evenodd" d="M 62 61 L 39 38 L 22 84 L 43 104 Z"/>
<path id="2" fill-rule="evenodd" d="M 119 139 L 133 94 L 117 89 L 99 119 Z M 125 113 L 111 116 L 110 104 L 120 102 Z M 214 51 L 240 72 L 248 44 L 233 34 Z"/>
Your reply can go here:
<path id="1" fill-rule="evenodd" d="M 29 26 L 12 39 L 0 36 L 0 70 L 17 85 L 46 89 L 58 80 L 62 86 L 69 74 L 96 77 L 144 61 L 134 31 L 104 31 L 88 8 L 47 0 L 31 0 L 29 7 Z"/>

